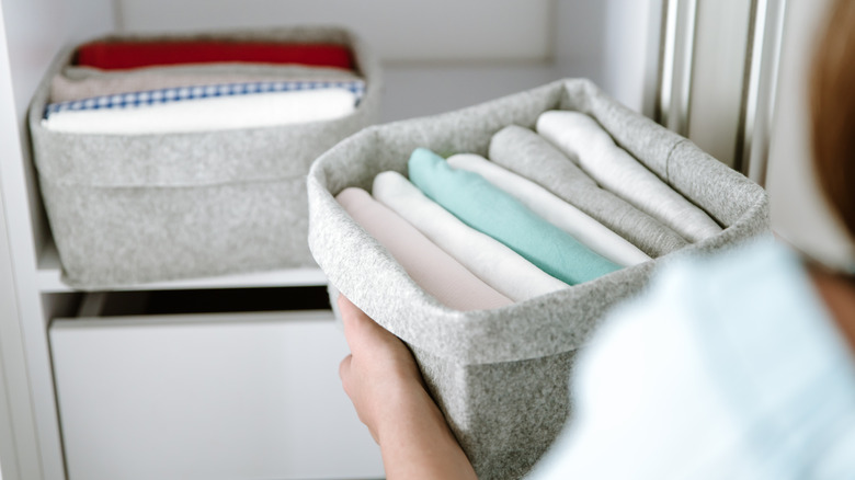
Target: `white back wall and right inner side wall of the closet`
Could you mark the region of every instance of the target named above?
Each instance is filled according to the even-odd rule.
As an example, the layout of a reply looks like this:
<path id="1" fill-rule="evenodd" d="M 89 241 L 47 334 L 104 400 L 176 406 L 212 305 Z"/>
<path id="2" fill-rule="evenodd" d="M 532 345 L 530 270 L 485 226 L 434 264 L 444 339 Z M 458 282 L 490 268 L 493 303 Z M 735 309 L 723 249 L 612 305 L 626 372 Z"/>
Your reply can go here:
<path id="1" fill-rule="evenodd" d="M 347 26 L 385 64 L 384 122 L 446 112 L 565 77 L 590 78 L 639 111 L 652 101 L 645 90 L 652 84 L 646 79 L 649 20 L 651 4 L 661 0 L 116 1 L 125 31 Z"/>

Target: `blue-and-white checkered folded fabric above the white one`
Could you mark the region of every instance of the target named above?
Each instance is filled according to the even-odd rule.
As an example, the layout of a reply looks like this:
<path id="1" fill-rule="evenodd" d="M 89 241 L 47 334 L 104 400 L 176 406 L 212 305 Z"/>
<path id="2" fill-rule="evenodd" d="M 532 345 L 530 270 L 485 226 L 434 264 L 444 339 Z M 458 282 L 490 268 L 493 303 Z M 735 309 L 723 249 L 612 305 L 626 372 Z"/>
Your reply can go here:
<path id="1" fill-rule="evenodd" d="M 363 80 L 349 81 L 259 81 L 243 83 L 220 83 L 212 85 L 175 87 L 141 92 L 119 93 L 115 95 L 93 96 L 91 99 L 69 102 L 50 103 L 45 107 L 44 118 L 58 112 L 80 110 L 127 108 L 136 106 L 157 105 L 162 103 L 184 102 L 209 99 L 215 96 L 252 95 L 273 92 L 292 92 L 300 90 L 345 89 L 356 96 L 356 105 L 365 94 Z"/>

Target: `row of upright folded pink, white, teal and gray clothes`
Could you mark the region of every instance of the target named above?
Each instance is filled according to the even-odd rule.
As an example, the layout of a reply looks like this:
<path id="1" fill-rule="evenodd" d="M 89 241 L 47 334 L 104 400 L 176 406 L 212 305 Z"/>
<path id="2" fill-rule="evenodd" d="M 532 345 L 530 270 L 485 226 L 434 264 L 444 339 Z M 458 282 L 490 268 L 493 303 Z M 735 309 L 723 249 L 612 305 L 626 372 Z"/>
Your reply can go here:
<path id="1" fill-rule="evenodd" d="M 503 128 L 490 142 L 490 156 L 510 168 L 551 162 L 555 168 L 539 169 L 538 176 L 569 170 L 573 182 L 588 186 L 583 195 L 561 198 L 475 153 L 446 160 L 418 148 L 408 161 L 409 180 L 386 171 L 374 178 L 374 198 L 357 187 L 335 198 L 426 293 L 459 310 L 546 295 L 721 231 L 590 116 L 549 111 L 537 129 L 544 136 L 517 125 Z M 612 208 L 595 208 L 597 203 Z"/>

